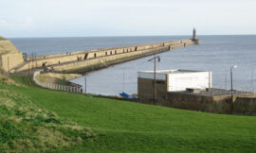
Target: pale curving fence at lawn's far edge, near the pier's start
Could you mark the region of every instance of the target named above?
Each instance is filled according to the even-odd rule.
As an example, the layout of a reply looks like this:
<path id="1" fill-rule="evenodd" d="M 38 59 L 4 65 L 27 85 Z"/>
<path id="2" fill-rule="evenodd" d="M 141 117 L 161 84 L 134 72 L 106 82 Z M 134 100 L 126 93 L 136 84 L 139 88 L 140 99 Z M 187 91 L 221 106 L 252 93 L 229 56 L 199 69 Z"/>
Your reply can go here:
<path id="1" fill-rule="evenodd" d="M 65 91 L 65 92 L 71 92 L 71 93 L 81 93 L 82 87 L 65 86 L 65 85 L 54 84 L 54 83 L 42 83 L 38 81 L 36 76 L 40 75 L 41 72 L 42 70 L 36 71 L 33 75 L 33 80 L 37 85 L 47 89 L 52 89 L 52 90 Z"/>

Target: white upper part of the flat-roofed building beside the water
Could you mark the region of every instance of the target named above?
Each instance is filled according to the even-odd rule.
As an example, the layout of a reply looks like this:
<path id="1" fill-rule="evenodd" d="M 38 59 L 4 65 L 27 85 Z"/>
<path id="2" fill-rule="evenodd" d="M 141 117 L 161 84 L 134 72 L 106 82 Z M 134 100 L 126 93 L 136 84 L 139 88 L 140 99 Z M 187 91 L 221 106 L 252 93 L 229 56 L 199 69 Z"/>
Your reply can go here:
<path id="1" fill-rule="evenodd" d="M 154 79 L 154 71 L 138 72 L 137 77 Z M 155 79 L 167 81 L 167 92 L 211 88 L 211 71 L 157 70 Z"/>

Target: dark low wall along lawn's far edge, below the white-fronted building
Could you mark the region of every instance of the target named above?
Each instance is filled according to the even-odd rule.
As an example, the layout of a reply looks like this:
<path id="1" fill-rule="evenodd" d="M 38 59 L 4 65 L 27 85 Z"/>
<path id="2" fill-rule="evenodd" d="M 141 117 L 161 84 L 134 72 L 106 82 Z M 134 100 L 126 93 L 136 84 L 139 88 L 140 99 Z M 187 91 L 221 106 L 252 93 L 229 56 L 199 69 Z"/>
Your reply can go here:
<path id="1" fill-rule="evenodd" d="M 148 82 L 149 83 L 149 82 Z M 157 87 L 157 86 L 156 86 Z M 153 91 L 146 92 L 152 96 L 139 98 L 141 103 L 153 104 Z M 138 92 L 139 93 L 139 92 Z M 157 95 L 158 94 L 158 95 Z M 164 95 L 164 91 L 157 92 L 156 97 Z M 140 97 L 140 96 L 139 96 Z M 243 113 L 256 114 L 256 98 L 254 93 L 234 95 L 231 102 L 230 95 L 206 96 L 189 93 L 168 92 L 166 98 L 156 98 L 156 105 L 184 110 L 198 110 L 215 113 Z"/>

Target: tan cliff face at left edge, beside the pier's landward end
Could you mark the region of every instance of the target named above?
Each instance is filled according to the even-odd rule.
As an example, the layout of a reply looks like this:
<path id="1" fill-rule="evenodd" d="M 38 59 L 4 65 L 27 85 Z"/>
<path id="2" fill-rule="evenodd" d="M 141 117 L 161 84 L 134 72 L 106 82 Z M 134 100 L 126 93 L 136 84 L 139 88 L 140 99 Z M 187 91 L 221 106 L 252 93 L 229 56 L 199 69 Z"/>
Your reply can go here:
<path id="1" fill-rule="evenodd" d="M 23 54 L 9 40 L 0 37 L 0 67 L 9 71 L 23 63 Z"/>

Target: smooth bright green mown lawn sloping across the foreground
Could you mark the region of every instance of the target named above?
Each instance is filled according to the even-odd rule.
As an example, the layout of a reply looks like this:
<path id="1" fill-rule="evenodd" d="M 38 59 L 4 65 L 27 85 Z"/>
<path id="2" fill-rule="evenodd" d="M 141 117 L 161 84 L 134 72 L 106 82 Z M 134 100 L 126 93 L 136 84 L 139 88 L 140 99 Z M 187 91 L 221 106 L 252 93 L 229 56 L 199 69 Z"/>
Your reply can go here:
<path id="1" fill-rule="evenodd" d="M 56 113 L 59 120 L 89 127 L 95 133 L 90 141 L 57 147 L 56 152 L 256 151 L 255 116 L 175 110 L 34 86 L 0 84 L 0 88 L 22 94 L 31 105 Z"/>

